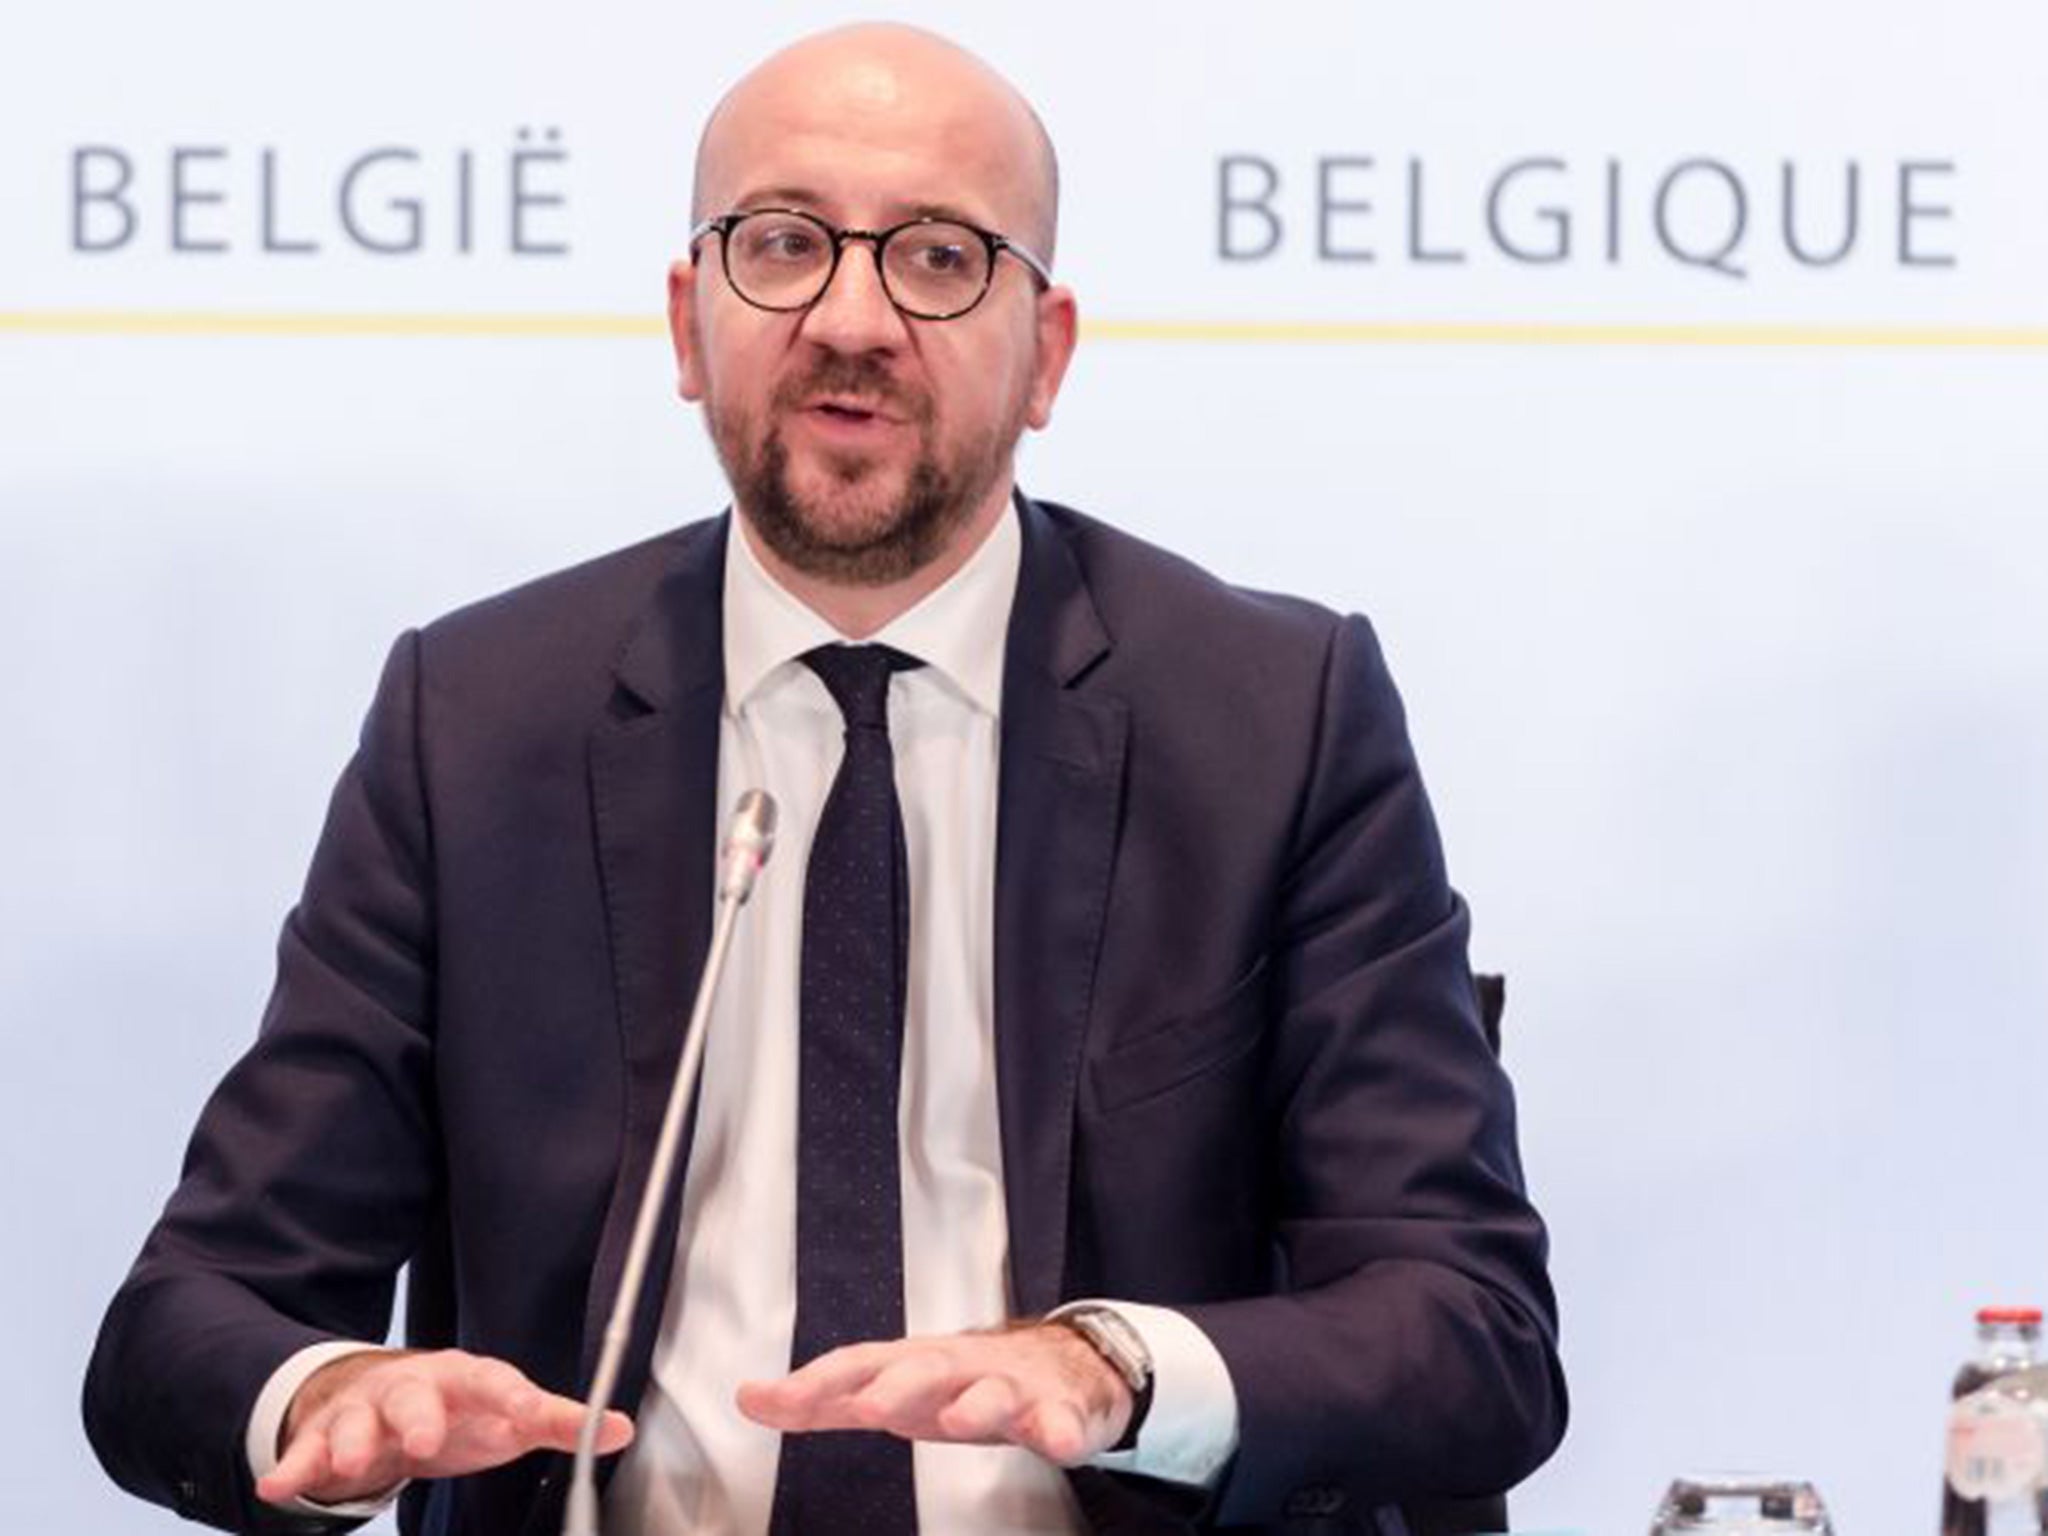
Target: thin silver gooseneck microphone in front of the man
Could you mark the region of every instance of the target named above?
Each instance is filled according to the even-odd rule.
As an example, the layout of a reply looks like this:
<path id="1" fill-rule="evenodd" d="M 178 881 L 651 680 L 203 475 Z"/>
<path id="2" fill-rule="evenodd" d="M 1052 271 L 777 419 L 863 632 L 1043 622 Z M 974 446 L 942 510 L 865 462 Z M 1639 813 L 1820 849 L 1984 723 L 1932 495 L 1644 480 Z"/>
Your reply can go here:
<path id="1" fill-rule="evenodd" d="M 696 983 L 696 1004 L 690 1008 L 690 1024 L 682 1034 L 682 1057 L 676 1061 L 676 1079 L 668 1090 L 668 1110 L 662 1114 L 662 1135 L 653 1145 L 647 1188 L 641 1190 L 639 1212 L 633 1219 L 633 1241 L 627 1245 L 627 1266 L 618 1276 L 612 1317 L 604 1325 L 598 1374 L 590 1384 L 584 1430 L 575 1438 L 575 1475 L 569 1481 L 569 1507 L 561 1522 L 561 1536 L 598 1536 L 598 1427 L 604 1421 L 604 1409 L 612 1403 L 612 1393 L 618 1391 L 618 1368 L 633 1335 L 633 1313 L 639 1311 L 641 1288 L 647 1284 L 647 1251 L 653 1247 L 662 1206 L 668 1204 L 668 1186 L 676 1174 L 676 1153 L 682 1143 L 682 1116 L 705 1061 L 705 1024 L 711 1018 L 711 999 L 719 991 L 719 977 L 725 975 L 725 952 L 733 944 L 739 909 L 754 895 L 754 881 L 772 850 L 774 797 L 750 788 L 733 807 L 725 846 L 719 850 L 719 915 L 711 930 L 711 952 L 705 956 L 705 975 Z"/>

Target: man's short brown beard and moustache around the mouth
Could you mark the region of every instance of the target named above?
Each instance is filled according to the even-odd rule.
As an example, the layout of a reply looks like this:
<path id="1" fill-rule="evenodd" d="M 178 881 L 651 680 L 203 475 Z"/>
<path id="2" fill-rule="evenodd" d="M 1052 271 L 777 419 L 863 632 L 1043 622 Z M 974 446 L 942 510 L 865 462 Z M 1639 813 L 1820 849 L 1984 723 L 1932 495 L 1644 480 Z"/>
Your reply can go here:
<path id="1" fill-rule="evenodd" d="M 813 485 L 797 485 L 778 422 L 836 393 L 866 399 L 915 432 L 915 455 L 895 483 L 889 467 L 868 455 L 827 453 L 813 463 Z M 1024 401 L 942 455 L 926 391 L 905 387 L 872 356 L 834 352 L 776 387 L 766 432 L 745 412 L 725 410 L 717 391 L 705 395 L 705 418 L 733 500 L 770 553 L 838 586 L 889 586 L 938 559 L 973 522 L 1010 467 L 1024 432 Z"/>

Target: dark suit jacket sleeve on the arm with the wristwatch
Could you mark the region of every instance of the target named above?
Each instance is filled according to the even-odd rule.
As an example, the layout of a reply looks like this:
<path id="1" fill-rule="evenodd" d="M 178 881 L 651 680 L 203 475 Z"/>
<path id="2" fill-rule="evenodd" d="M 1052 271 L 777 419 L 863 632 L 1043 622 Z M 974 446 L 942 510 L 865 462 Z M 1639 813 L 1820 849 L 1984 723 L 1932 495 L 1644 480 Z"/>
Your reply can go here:
<path id="1" fill-rule="evenodd" d="M 1270 954 L 1276 1294 L 1184 1311 L 1241 1436 L 1221 1524 L 1303 1493 L 1362 1509 L 1491 1493 L 1565 1425 L 1546 1239 L 1479 1028 L 1401 702 L 1335 627 Z"/>

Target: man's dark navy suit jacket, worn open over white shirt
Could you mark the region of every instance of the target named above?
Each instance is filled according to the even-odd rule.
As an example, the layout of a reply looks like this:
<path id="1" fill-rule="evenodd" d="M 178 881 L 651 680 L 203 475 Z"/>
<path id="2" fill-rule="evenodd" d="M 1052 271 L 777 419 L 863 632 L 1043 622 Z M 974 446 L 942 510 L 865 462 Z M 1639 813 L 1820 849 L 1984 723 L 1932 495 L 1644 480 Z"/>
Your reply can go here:
<path id="1" fill-rule="evenodd" d="M 1014 1294 L 1182 1307 L 1241 1409 L 1206 1505 L 1083 1473 L 1083 1507 L 1120 1532 L 1393 1532 L 1382 1505 L 1503 1489 L 1565 1423 L 1544 1231 L 1372 633 L 1018 508 Z M 383 1337 L 403 1264 L 414 1341 L 590 1380 L 711 932 L 725 537 L 688 526 L 393 649 L 258 1042 L 94 1352 L 86 1423 L 129 1489 L 303 1528 L 254 1501 L 250 1407 L 297 1348 Z M 563 1477 L 532 1456 L 416 1485 L 401 1524 L 553 1532 Z"/>

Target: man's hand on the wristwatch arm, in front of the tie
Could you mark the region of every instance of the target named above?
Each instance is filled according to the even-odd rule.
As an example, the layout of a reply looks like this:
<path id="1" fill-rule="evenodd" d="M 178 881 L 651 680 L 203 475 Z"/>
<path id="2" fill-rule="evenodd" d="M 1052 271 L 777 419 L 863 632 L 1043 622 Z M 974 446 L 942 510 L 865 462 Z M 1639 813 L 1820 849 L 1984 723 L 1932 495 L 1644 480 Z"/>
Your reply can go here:
<path id="1" fill-rule="evenodd" d="M 1073 1329 L 1034 1323 L 850 1343 L 780 1380 L 745 1382 L 739 1411 L 770 1430 L 1010 1444 L 1075 1466 L 1124 1434 L 1130 1389 Z"/>

